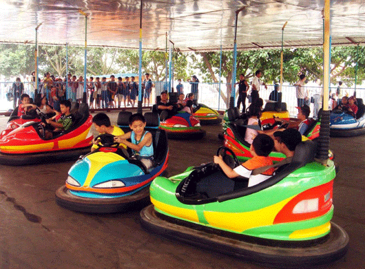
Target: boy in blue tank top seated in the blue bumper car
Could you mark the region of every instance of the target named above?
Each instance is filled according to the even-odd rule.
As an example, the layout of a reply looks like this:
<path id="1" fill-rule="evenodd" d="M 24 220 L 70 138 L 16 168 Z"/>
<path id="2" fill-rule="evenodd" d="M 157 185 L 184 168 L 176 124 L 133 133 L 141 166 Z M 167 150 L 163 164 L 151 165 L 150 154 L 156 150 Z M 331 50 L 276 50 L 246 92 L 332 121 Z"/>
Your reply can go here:
<path id="1" fill-rule="evenodd" d="M 152 168 L 154 161 L 154 145 L 152 144 L 152 133 L 145 131 L 146 120 L 142 114 L 134 114 L 129 118 L 129 128 L 132 131 L 123 136 L 116 136 L 114 140 L 125 144 L 132 149 L 132 158 L 140 160 L 147 169 Z M 127 141 L 131 139 L 132 142 Z"/>

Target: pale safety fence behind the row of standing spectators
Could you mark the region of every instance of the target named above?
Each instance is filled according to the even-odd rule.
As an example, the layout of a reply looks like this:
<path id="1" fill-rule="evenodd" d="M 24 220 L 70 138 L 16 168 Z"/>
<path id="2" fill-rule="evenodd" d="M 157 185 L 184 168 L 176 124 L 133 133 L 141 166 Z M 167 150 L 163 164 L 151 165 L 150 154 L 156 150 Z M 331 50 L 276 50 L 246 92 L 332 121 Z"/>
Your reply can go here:
<path id="1" fill-rule="evenodd" d="M 152 88 L 152 92 L 149 98 L 149 104 L 153 105 L 156 100 L 156 96 L 160 95 L 161 92 L 164 90 L 167 90 L 169 87 L 169 83 L 166 81 L 154 81 L 153 82 L 154 87 Z M 229 97 L 231 96 L 231 84 L 230 83 L 198 83 L 194 85 L 194 83 L 181 83 L 183 85 L 182 92 L 186 95 L 191 92 L 191 88 L 194 87 L 194 89 L 198 89 L 198 103 L 202 103 L 207 105 L 208 107 L 211 107 L 212 109 L 216 109 L 219 111 L 224 111 L 229 107 Z M 63 89 L 65 90 L 64 98 L 76 100 L 76 98 L 79 98 L 80 96 L 77 96 L 77 89 L 73 90 L 70 83 L 68 85 L 64 82 L 62 83 L 54 83 L 54 85 L 57 85 L 57 89 Z M 81 90 L 83 91 L 83 82 L 79 82 L 79 87 L 81 87 Z M 176 92 L 176 86 L 178 83 L 174 83 L 174 85 L 170 85 L 171 87 L 174 86 L 175 92 Z M 331 94 L 336 93 L 337 87 L 331 87 Z M 267 85 L 267 89 L 264 89 L 264 87 L 261 86 L 260 89 L 260 98 L 264 100 L 264 103 L 269 100 L 269 95 L 273 91 L 273 85 Z M 34 83 L 31 82 L 24 82 L 23 83 L 23 93 L 29 94 L 31 98 L 35 98 L 34 96 Z M 43 83 L 39 83 L 39 93 L 45 94 L 48 97 L 49 103 L 52 105 L 53 100 L 52 96 L 54 96 L 54 93 L 52 93 L 52 89 L 49 89 L 48 87 L 45 87 Z M 304 92 L 308 92 L 308 105 L 311 107 L 311 111 L 313 111 L 313 103 L 310 102 L 310 100 L 315 96 L 315 94 L 320 94 L 322 92 L 322 87 L 305 87 L 304 86 Z M 348 87 L 342 87 L 340 96 L 352 96 L 355 92 L 355 88 L 348 88 Z M 9 94 L 10 93 L 10 94 Z M 330 95 L 331 95 L 330 94 Z M 227 97 L 228 96 L 228 97 Z M 357 88 L 356 89 L 356 96 L 357 98 L 365 98 L 365 88 Z M 115 96 L 115 106 L 118 104 L 117 98 L 123 98 L 123 96 Z M 337 98 L 337 96 L 335 96 Z M 237 98 L 238 98 L 238 85 L 236 85 L 236 100 L 235 105 L 237 104 Z M 329 96 L 328 96 L 329 98 Z M 0 105 L 1 105 L 1 111 L 6 111 L 8 109 L 12 109 L 14 106 L 14 90 L 13 90 L 13 83 L 11 82 L 0 82 Z M 138 100 L 138 96 L 136 97 L 136 100 Z M 297 98 L 296 98 L 296 88 L 292 85 L 283 85 L 282 87 L 282 102 L 286 103 L 286 107 L 289 111 L 289 114 L 291 116 L 296 116 L 298 114 L 297 107 Z M 87 103 L 90 104 L 90 90 L 87 89 Z M 322 106 L 322 100 L 320 100 L 320 105 Z M 94 100 L 92 104 L 95 108 L 97 107 L 97 103 Z M 100 104 L 101 105 L 101 104 Z M 249 105 L 248 98 L 246 99 L 246 107 Z M 124 107 L 124 102 L 121 103 L 121 106 Z M 136 106 L 136 104 L 135 104 Z M 127 105 L 127 107 L 131 107 L 131 105 Z M 242 106 L 241 106 L 242 109 Z"/>

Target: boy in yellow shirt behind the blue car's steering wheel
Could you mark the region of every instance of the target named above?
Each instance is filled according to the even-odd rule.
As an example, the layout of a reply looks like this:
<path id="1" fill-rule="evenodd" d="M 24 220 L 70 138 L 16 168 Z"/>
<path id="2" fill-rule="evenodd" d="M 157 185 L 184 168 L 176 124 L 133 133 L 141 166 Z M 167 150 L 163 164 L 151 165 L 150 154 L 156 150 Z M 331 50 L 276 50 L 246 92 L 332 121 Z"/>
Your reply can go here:
<path id="1" fill-rule="evenodd" d="M 114 126 L 110 123 L 110 118 L 105 113 L 98 113 L 92 118 L 92 122 L 94 123 L 94 127 L 98 133 L 109 133 L 113 136 L 123 136 L 124 131 L 118 126 Z M 91 151 L 95 151 L 98 149 L 98 144 L 100 140 L 93 140 L 93 145 Z M 120 144 L 119 147 L 127 149 L 125 144 Z M 127 154 L 127 151 L 123 151 L 123 153 Z"/>

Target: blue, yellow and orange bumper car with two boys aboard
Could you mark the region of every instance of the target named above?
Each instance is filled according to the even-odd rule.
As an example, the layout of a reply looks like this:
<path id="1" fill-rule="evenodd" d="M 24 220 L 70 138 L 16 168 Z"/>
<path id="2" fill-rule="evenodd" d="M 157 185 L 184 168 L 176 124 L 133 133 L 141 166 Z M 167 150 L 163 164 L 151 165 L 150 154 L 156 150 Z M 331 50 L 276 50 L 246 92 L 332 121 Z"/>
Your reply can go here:
<path id="1" fill-rule="evenodd" d="M 119 114 L 118 124 L 125 127 L 121 114 L 125 114 L 127 123 L 132 113 Z M 98 137 L 103 146 L 71 167 L 65 186 L 56 191 L 57 204 L 84 213 L 116 213 L 145 206 L 149 202 L 149 184 L 165 171 L 168 159 L 167 137 L 165 131 L 158 129 L 158 115 L 146 113 L 145 118 L 145 129 L 154 138 L 152 169 L 147 170 L 140 160 L 128 158 L 118 149 L 114 136 L 102 134 Z"/>

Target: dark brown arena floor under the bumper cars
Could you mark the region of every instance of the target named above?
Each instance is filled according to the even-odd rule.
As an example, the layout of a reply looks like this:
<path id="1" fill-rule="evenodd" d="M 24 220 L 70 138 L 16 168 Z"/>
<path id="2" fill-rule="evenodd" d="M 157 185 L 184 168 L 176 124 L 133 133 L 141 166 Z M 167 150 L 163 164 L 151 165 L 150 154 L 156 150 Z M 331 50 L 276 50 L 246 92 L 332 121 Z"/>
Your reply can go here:
<path id="1" fill-rule="evenodd" d="M 116 122 L 116 112 L 110 112 Z M 7 117 L 0 117 L 5 129 Z M 169 175 L 210 162 L 221 126 L 203 127 L 198 141 L 169 140 Z M 350 236 L 344 259 L 324 268 L 364 268 L 365 136 L 333 138 L 340 164 L 333 190 L 335 214 Z M 139 211 L 87 215 L 57 206 L 54 192 L 73 162 L 0 166 L 0 268 L 262 268 L 240 259 L 168 241 L 140 228 Z"/>

